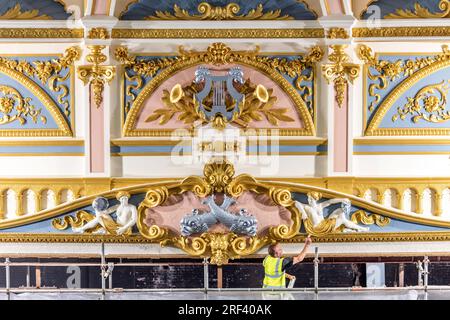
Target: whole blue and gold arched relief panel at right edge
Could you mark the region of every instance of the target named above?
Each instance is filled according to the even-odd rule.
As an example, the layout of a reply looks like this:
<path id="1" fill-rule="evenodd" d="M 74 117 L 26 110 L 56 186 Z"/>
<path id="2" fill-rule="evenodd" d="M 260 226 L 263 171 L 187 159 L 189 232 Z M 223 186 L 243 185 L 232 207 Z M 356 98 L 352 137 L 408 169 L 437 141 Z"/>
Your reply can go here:
<path id="1" fill-rule="evenodd" d="M 402 123 L 403 127 L 381 126 L 394 104 L 409 89 L 416 84 L 419 85 L 421 80 L 450 66 L 448 47 L 443 45 L 441 50 L 440 53 L 373 53 L 372 49 L 366 45 L 358 46 L 358 56 L 365 62 L 363 92 L 368 89 L 364 92 L 364 123 L 366 124 L 369 116 L 371 117 L 370 122 L 366 124 L 365 135 L 439 136 L 449 134 L 448 127 L 434 125 L 450 118 L 450 112 L 446 109 L 448 88 L 440 78 L 440 80 L 422 82 L 416 91 L 406 97 L 404 103 L 397 105 L 397 111 L 394 114 L 391 113 L 389 118 L 391 123 Z M 392 61 L 379 58 L 383 55 L 398 58 L 391 59 Z M 404 56 L 406 57 L 402 58 Z M 373 80 L 377 82 L 370 82 Z M 368 97 L 375 99 L 372 99 L 369 104 Z M 419 126 L 419 122 L 427 123 L 427 126 Z"/>

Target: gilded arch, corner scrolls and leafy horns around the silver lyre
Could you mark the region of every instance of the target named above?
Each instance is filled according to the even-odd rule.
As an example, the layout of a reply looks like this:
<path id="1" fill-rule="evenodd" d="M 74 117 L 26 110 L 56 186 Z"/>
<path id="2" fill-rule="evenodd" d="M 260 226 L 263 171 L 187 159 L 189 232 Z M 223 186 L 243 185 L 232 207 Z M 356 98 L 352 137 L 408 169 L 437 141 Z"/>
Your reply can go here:
<path id="1" fill-rule="evenodd" d="M 131 96 L 133 100 L 133 105 L 130 107 L 130 112 L 127 115 L 127 120 L 125 122 L 125 133 L 130 132 L 133 129 L 134 120 L 129 119 L 136 119 L 136 114 L 139 111 L 136 105 L 138 102 L 139 106 L 142 105 L 142 99 L 145 97 L 144 93 L 147 94 L 144 91 L 150 90 L 150 88 L 154 89 L 156 87 L 156 80 L 158 80 L 158 82 L 164 81 L 168 77 L 172 76 L 176 70 L 182 70 L 188 66 L 195 66 L 202 63 L 212 64 L 215 66 L 236 63 L 248 65 L 261 70 L 263 73 L 268 74 L 272 80 L 280 83 L 280 87 L 289 93 L 296 106 L 298 106 L 298 111 L 305 124 L 305 131 L 314 135 L 312 112 L 308 109 L 305 103 L 305 101 L 307 101 L 312 95 L 312 92 L 311 90 L 306 90 L 305 94 L 300 96 L 297 90 L 304 90 L 305 87 L 303 81 L 312 79 L 311 75 L 305 75 L 303 74 L 303 71 L 307 68 L 314 67 L 314 64 L 320 61 L 323 57 L 323 51 L 318 46 L 311 48 L 305 56 L 292 60 L 260 55 L 259 47 L 256 47 L 255 50 L 249 51 L 234 51 L 224 43 L 213 43 L 205 51 L 187 51 L 180 46 L 179 54 L 175 57 L 154 58 L 150 60 L 137 59 L 135 56 L 128 53 L 126 47 L 118 47 L 115 51 L 115 57 L 125 68 L 133 70 L 136 73 L 136 76 L 155 76 L 155 78 L 149 82 L 146 88 L 144 88 L 144 90 L 142 90 L 137 97 L 134 96 L 131 90 L 136 88 L 136 85 L 142 85 L 143 81 L 138 82 L 133 86 L 133 88 L 131 88 L 131 86 L 127 86 L 127 88 L 125 88 L 126 94 Z M 293 78 L 294 86 L 286 81 L 284 75 Z M 128 75 L 126 76 L 131 79 Z M 134 76 L 134 79 L 136 79 L 136 76 Z M 240 119 L 240 124 L 242 126 L 245 127 L 250 121 L 259 121 L 258 119 L 261 119 L 261 115 L 266 116 L 267 120 L 272 124 L 278 124 L 278 121 L 291 121 L 284 114 L 286 111 L 283 109 L 272 108 L 273 103 L 276 101 L 276 97 L 270 96 L 272 93 L 270 89 L 262 88 L 261 86 L 256 86 L 253 87 L 253 89 L 250 89 L 251 85 L 253 84 L 249 83 L 246 90 L 252 90 L 252 94 L 249 95 L 248 98 L 253 104 L 251 106 L 247 105 L 247 114 Z M 191 102 L 186 102 L 187 99 L 191 99 L 194 94 L 194 92 L 189 91 L 193 90 L 193 87 L 191 86 L 190 89 L 188 87 L 178 88 L 178 90 L 180 93 L 183 93 L 180 95 L 179 101 L 174 103 L 172 100 L 171 102 L 169 99 L 170 94 L 169 92 L 166 92 L 166 98 L 164 99 L 166 108 L 159 110 L 159 116 L 155 114 L 154 117 L 151 117 L 148 121 L 155 121 L 159 119 L 162 123 L 166 123 L 177 112 L 181 113 L 180 116 L 182 117 L 182 120 L 185 120 L 185 122 L 188 121 L 188 123 L 191 123 L 198 119 L 201 120 L 199 114 L 196 112 L 191 112 L 194 110 L 192 106 L 187 107 L 189 103 L 193 103 L 192 100 Z M 184 90 L 186 90 L 186 92 Z M 250 92 L 248 91 L 247 93 Z M 141 99 L 139 99 L 139 97 L 141 97 Z M 254 99 L 254 97 L 257 99 Z M 267 102 L 264 102 L 265 100 L 267 100 Z M 183 102 L 180 103 L 180 101 Z M 130 117 L 130 115 L 132 116 Z"/>

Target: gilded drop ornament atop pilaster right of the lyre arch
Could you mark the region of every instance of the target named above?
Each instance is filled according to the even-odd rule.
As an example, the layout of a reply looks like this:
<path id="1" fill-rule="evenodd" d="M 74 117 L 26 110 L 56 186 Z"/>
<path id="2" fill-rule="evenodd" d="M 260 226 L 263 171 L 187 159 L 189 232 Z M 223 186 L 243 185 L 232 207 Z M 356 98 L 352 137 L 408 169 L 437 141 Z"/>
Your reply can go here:
<path id="1" fill-rule="evenodd" d="M 344 103 L 348 83 L 359 76 L 359 65 L 350 62 L 345 53 L 346 45 L 332 45 L 333 52 L 328 56 L 331 63 L 322 66 L 322 74 L 328 83 L 334 83 L 335 99 L 339 107 Z"/>

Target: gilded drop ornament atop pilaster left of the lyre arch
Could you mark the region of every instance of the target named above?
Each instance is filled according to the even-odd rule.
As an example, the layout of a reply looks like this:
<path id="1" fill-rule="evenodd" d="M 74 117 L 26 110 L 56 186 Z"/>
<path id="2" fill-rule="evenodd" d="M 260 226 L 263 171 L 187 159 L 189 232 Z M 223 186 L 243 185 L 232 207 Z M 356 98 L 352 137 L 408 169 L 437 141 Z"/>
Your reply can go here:
<path id="1" fill-rule="evenodd" d="M 78 77 L 85 85 L 89 83 L 92 86 L 94 103 L 99 108 L 103 102 L 105 84 L 110 83 L 114 78 L 116 67 L 101 65 L 107 59 L 106 55 L 102 53 L 105 46 L 91 45 L 88 48 L 91 53 L 86 56 L 86 60 L 91 64 L 78 67 L 77 72 Z"/>

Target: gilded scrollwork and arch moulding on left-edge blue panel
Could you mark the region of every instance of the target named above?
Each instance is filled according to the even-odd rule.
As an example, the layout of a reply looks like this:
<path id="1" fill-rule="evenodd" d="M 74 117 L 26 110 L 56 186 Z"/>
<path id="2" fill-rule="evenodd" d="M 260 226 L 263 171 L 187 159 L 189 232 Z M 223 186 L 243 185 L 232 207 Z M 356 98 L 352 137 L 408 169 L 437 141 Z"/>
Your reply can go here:
<path id="1" fill-rule="evenodd" d="M 61 114 L 58 106 L 55 104 L 53 99 L 41 88 L 33 78 L 39 79 L 39 81 L 49 88 L 50 91 L 57 93 L 57 101 L 61 107 L 64 109 L 64 113 L 66 116 L 69 116 L 69 102 L 65 99 L 69 93 L 69 88 L 61 84 L 61 81 L 65 81 L 70 75 L 71 71 L 68 72 L 65 76 L 62 76 L 60 73 L 63 69 L 72 68 L 74 61 L 78 60 L 80 57 L 80 49 L 78 47 L 70 47 L 66 49 L 65 54 L 58 58 L 53 59 L 51 61 L 34 61 L 33 63 L 29 63 L 25 60 L 13 60 L 7 57 L 0 57 L 0 73 L 7 75 L 23 84 L 28 90 L 30 90 L 33 95 L 39 99 L 44 106 L 48 109 L 55 122 L 58 125 L 59 129 L 30 129 L 30 130 L 17 130 L 17 129 L 9 129 L 9 130 L 1 130 L 0 136 L 72 136 L 72 130 Z M 17 95 L 16 95 L 17 96 Z M 37 117 L 36 110 L 33 111 L 33 108 L 26 107 L 26 101 L 19 109 L 22 112 L 30 115 L 32 120 L 34 121 L 34 117 Z M 8 103 L 6 100 L 3 101 L 4 110 L 8 111 Z M 30 106 L 30 105 L 29 105 Z M 16 108 L 17 110 L 17 108 Z M 12 110 L 9 110 L 12 111 Z M 19 110 L 17 110 L 19 111 Z M 11 120 L 11 115 L 6 117 Z M 23 117 L 18 117 L 17 120 L 22 123 L 19 119 Z M 5 116 L 4 116 L 5 119 Z M 37 120 L 37 118 L 36 118 Z M 40 120 L 45 123 L 47 119 L 40 118 Z M 10 121 L 9 121 L 10 122 Z M 7 122 L 4 122 L 7 123 Z"/>

